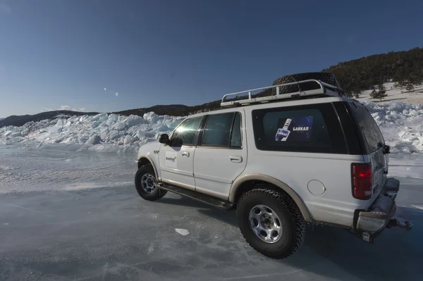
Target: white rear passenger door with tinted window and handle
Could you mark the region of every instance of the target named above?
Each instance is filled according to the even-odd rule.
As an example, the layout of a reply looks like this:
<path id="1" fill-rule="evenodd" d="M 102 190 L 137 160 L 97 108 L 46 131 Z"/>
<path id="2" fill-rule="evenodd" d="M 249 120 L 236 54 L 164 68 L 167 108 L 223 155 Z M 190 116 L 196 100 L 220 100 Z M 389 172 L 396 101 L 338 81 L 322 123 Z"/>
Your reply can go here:
<path id="1" fill-rule="evenodd" d="M 194 156 L 197 192 L 228 199 L 233 180 L 243 173 L 247 165 L 243 112 L 207 116 Z"/>

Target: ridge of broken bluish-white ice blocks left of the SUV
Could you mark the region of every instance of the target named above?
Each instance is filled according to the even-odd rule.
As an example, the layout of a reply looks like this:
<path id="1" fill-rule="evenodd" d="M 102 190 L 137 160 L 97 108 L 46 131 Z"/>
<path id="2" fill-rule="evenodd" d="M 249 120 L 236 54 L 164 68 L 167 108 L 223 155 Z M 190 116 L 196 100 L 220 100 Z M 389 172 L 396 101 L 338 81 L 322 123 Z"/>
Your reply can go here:
<path id="1" fill-rule="evenodd" d="M 0 128 L 0 143 L 26 144 L 40 149 L 133 153 L 137 148 L 168 133 L 183 117 L 154 112 L 123 116 L 99 113 L 29 122 L 21 127 Z"/>

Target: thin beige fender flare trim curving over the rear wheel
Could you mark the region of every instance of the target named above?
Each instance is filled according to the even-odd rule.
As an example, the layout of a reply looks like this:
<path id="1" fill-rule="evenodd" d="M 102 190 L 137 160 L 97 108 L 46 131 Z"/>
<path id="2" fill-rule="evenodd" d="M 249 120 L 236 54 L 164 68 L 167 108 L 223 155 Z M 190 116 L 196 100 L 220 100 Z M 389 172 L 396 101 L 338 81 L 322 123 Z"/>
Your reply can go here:
<path id="1" fill-rule="evenodd" d="M 262 175 L 262 174 L 250 174 L 250 175 L 243 175 L 241 177 L 238 177 L 238 179 L 233 182 L 233 185 L 231 187 L 231 190 L 229 192 L 229 201 L 231 203 L 235 203 L 235 194 L 240 187 L 240 185 L 243 184 L 243 182 L 247 182 L 248 180 L 261 180 L 263 182 L 269 182 L 271 185 L 275 185 L 276 187 L 281 188 L 283 191 L 288 193 L 288 195 L 295 201 L 295 204 L 297 204 L 298 208 L 300 208 L 300 211 L 302 213 L 302 216 L 307 221 L 312 221 L 312 215 L 310 214 L 307 206 L 305 205 L 304 201 L 298 196 L 298 194 L 288 185 L 286 185 L 284 182 L 281 182 L 280 180 L 276 180 L 274 177 L 270 177 L 269 175 Z"/>

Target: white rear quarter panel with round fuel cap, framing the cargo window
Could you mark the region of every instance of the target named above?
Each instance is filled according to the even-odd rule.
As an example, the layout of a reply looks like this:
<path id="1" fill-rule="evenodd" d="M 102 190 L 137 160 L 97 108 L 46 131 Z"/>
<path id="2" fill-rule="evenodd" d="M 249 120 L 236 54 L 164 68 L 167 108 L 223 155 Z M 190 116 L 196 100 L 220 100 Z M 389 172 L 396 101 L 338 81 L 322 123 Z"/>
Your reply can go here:
<path id="1" fill-rule="evenodd" d="M 338 98 L 309 100 L 312 104 Z M 307 100 L 301 101 L 305 104 Z M 248 106 L 245 108 L 247 123 L 248 163 L 243 175 L 264 174 L 275 177 L 293 189 L 304 201 L 314 220 L 336 225 L 353 226 L 357 208 L 367 208 L 367 200 L 354 199 L 351 192 L 351 163 L 363 163 L 360 155 L 318 154 L 287 151 L 260 151 L 254 144 L 251 111 L 258 108 L 271 108 L 298 105 L 298 101 L 278 104 Z M 308 184 L 318 180 L 324 186 L 324 193 L 314 195 Z"/>

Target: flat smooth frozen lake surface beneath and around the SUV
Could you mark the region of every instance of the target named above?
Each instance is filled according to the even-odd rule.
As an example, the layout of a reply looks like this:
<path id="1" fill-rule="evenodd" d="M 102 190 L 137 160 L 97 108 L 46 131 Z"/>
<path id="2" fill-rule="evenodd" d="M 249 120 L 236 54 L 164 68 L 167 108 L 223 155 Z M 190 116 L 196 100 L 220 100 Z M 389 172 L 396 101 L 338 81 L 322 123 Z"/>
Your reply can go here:
<path id="1" fill-rule="evenodd" d="M 422 159 L 390 161 L 411 232 L 367 244 L 309 226 L 301 249 L 274 261 L 247 245 L 235 212 L 142 200 L 134 154 L 0 146 L 0 280 L 422 280 Z"/>

